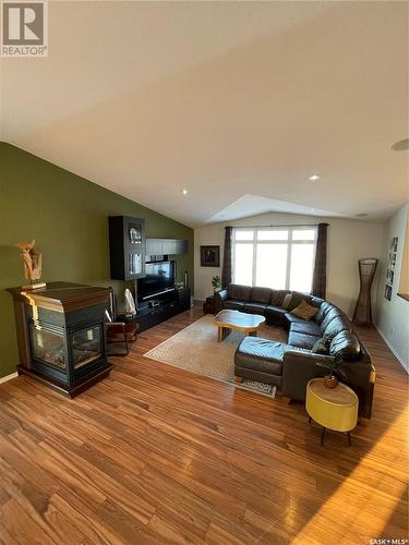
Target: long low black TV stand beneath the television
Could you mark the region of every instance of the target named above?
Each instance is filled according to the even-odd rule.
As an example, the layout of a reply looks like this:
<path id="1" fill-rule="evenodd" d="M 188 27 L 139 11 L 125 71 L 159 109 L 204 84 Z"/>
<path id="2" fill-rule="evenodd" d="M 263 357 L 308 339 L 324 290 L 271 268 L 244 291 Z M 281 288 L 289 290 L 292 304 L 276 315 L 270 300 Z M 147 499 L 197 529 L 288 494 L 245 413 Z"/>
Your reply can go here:
<path id="1" fill-rule="evenodd" d="M 140 331 L 145 331 L 181 312 L 189 311 L 190 293 L 189 288 L 171 290 L 140 302 L 134 317 L 134 320 L 140 324 Z"/>

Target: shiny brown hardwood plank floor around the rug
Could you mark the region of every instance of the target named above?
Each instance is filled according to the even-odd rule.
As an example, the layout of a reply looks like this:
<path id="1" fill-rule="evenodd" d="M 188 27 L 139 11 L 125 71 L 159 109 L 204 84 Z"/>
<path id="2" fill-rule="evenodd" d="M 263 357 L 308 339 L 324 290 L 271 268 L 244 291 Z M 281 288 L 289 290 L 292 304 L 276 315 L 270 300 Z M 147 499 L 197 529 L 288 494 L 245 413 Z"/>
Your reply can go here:
<path id="1" fill-rule="evenodd" d="M 407 375 L 375 330 L 374 413 L 353 432 L 142 354 L 201 315 L 141 334 L 69 400 L 0 385 L 2 543 L 369 543 L 408 537 Z"/>

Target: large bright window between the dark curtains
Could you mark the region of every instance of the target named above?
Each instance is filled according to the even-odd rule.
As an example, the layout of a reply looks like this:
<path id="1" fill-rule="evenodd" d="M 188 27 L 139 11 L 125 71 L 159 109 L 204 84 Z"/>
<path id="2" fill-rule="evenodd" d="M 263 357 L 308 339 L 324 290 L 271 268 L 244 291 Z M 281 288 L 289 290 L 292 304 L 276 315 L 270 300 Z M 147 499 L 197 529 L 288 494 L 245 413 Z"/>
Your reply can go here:
<path id="1" fill-rule="evenodd" d="M 233 229 L 233 282 L 310 292 L 315 227 Z"/>

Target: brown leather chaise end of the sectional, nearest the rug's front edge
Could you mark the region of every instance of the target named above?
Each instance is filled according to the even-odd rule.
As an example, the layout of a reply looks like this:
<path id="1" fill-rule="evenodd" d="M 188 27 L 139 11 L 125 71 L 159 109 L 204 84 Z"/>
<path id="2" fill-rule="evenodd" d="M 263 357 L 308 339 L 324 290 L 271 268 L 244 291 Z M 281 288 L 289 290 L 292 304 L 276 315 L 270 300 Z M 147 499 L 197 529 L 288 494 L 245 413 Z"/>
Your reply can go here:
<path id="1" fill-rule="evenodd" d="M 245 337 L 236 351 L 234 364 L 248 370 L 281 375 L 286 349 L 287 344 L 282 342 Z"/>

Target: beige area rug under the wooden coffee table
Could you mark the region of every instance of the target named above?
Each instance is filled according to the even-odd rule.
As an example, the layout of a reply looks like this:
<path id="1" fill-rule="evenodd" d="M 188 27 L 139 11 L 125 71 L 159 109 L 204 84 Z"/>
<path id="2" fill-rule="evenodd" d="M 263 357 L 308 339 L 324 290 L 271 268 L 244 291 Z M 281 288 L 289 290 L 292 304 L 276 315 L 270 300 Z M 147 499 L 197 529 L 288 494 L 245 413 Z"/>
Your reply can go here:
<path id="1" fill-rule="evenodd" d="M 265 324 L 260 327 L 257 335 L 264 339 L 286 342 L 282 329 Z M 144 356 L 234 384 L 234 352 L 243 338 L 244 335 L 240 331 L 231 331 L 222 342 L 218 342 L 215 317 L 207 314 L 146 352 Z M 236 386 L 272 397 L 276 392 L 274 386 L 253 380 L 243 380 Z"/>

